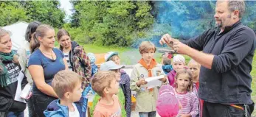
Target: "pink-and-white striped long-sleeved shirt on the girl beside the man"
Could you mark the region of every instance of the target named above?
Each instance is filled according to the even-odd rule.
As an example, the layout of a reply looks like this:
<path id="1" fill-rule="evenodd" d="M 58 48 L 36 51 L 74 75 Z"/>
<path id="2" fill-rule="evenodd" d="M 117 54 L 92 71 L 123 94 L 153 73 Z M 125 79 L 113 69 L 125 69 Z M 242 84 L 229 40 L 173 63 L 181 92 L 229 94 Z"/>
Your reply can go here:
<path id="1" fill-rule="evenodd" d="M 179 114 L 190 114 L 192 117 L 198 115 L 198 98 L 193 92 L 178 93 L 176 97 L 181 104 Z"/>

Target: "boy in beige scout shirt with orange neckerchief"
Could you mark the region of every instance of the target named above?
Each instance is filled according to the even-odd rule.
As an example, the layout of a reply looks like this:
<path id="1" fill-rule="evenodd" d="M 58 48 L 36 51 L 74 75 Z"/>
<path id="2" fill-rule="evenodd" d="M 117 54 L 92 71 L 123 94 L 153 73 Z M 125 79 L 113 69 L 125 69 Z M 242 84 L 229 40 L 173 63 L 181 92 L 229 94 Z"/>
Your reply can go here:
<path id="1" fill-rule="evenodd" d="M 148 77 L 156 77 L 159 74 L 165 74 L 162 71 L 162 65 L 156 63 L 153 54 L 156 52 L 156 46 L 149 41 L 143 41 L 139 46 L 139 53 L 142 59 L 134 65 L 131 72 L 131 91 L 136 91 L 136 108 L 141 117 L 156 116 L 156 100 L 159 87 L 147 88 L 145 79 Z M 162 85 L 167 83 L 167 78 L 160 79 Z"/>

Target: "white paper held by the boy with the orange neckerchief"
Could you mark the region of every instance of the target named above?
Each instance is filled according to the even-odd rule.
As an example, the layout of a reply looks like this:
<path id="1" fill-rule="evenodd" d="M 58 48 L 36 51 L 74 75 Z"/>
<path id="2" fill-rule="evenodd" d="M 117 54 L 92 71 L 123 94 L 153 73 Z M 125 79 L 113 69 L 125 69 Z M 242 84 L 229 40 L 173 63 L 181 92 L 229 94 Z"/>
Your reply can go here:
<path id="1" fill-rule="evenodd" d="M 162 79 L 164 77 L 165 77 L 164 75 L 160 75 L 160 76 L 157 76 L 157 77 L 145 78 L 145 81 L 148 82 L 147 88 L 150 89 L 150 88 L 155 88 L 155 87 L 161 86 L 162 81 L 160 81 L 159 79 Z"/>

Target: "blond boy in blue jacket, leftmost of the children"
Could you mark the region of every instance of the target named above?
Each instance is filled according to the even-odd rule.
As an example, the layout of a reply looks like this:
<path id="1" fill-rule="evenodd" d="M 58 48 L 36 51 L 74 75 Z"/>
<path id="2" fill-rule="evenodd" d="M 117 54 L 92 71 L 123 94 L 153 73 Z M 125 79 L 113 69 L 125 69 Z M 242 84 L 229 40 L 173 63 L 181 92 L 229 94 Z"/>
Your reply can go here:
<path id="1" fill-rule="evenodd" d="M 52 80 L 52 88 L 59 99 L 52 101 L 44 111 L 46 117 L 83 117 L 82 77 L 74 71 L 59 71 Z"/>

